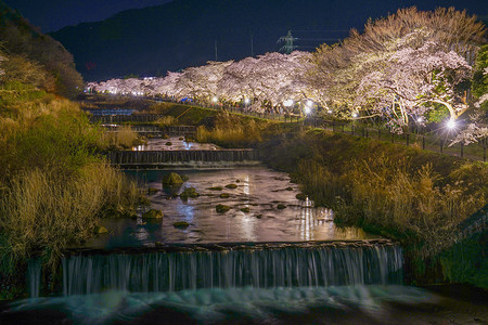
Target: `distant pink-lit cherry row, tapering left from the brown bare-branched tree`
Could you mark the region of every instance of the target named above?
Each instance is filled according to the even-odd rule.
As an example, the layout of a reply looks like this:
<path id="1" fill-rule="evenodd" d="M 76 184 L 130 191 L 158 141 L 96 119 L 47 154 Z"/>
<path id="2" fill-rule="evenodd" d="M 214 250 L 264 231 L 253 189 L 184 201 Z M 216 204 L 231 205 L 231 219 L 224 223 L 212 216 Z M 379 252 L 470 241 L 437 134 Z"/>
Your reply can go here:
<path id="1" fill-rule="evenodd" d="M 266 53 L 233 62 L 208 62 L 165 78 L 111 79 L 89 82 L 97 92 L 132 95 L 165 95 L 176 100 L 191 98 L 209 102 L 214 96 L 229 103 L 249 99 L 249 109 L 262 112 L 264 105 L 277 107 L 286 100 L 308 98 L 303 73 L 310 67 L 310 53 Z"/>

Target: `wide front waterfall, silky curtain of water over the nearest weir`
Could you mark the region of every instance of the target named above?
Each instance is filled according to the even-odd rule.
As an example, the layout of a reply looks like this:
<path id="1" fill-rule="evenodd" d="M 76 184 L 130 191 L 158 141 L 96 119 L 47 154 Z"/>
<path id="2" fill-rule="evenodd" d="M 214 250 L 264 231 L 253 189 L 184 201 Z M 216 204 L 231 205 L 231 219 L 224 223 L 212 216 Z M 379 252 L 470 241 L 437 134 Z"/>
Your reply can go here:
<path id="1" fill-rule="evenodd" d="M 401 284 L 401 248 L 346 245 L 72 256 L 63 260 L 65 296 L 105 289 L 175 291 L 197 288 Z"/>

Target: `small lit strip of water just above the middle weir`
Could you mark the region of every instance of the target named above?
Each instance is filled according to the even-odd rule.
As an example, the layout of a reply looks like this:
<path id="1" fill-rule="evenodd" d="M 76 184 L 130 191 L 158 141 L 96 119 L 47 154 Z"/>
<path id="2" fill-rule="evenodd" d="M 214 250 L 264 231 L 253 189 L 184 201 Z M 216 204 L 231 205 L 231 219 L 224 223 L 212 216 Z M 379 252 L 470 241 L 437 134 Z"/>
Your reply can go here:
<path id="1" fill-rule="evenodd" d="M 171 144 L 169 144 L 169 142 Z M 147 139 L 146 144 L 132 147 L 132 151 L 216 151 L 220 150 L 213 143 L 187 142 L 183 138 L 171 136 L 168 139 L 153 138 Z"/>

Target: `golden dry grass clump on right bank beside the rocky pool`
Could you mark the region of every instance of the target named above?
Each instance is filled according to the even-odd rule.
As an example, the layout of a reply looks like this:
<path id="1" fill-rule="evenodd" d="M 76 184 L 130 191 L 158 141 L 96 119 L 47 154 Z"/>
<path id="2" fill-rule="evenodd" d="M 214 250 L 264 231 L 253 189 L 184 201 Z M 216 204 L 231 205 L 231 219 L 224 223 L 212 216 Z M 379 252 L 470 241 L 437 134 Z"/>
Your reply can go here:
<path id="1" fill-rule="evenodd" d="M 473 164 L 466 164 L 464 171 L 453 171 L 447 182 L 429 162 L 412 168 L 406 158 L 376 155 L 352 161 L 342 177 L 319 172 L 322 183 L 310 186 L 316 188 L 312 193 L 332 203 L 338 220 L 414 238 L 423 243 L 420 255 L 427 258 L 452 245 L 458 224 L 486 203 L 487 191 L 462 180 L 473 169 L 467 166 Z M 486 184 L 488 171 L 484 170 L 470 179 Z"/>

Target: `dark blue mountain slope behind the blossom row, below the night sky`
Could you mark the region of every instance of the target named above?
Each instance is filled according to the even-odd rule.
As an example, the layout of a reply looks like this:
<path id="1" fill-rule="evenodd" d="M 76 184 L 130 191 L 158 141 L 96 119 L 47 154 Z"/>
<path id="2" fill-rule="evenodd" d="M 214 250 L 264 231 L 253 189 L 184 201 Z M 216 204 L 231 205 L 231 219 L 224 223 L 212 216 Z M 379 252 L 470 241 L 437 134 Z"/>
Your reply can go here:
<path id="1" fill-rule="evenodd" d="M 127 75 L 164 76 L 207 61 L 240 60 L 277 51 L 292 30 L 298 50 L 336 42 L 369 17 L 386 16 L 412 0 L 175 0 L 120 12 L 98 23 L 65 27 L 51 36 L 73 53 L 86 80 Z M 486 11 L 479 1 L 424 1 L 421 10 L 454 5 Z"/>

